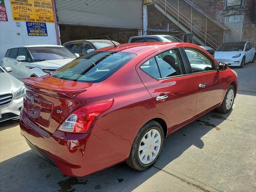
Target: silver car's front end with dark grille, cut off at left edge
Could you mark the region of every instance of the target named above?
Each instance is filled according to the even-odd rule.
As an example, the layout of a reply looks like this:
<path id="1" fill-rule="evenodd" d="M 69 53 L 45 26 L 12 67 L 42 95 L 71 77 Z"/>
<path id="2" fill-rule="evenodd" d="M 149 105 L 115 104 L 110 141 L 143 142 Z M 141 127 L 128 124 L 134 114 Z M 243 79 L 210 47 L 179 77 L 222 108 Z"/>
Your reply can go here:
<path id="1" fill-rule="evenodd" d="M 23 105 L 24 84 L 8 74 L 11 71 L 0 66 L 0 122 L 19 118 Z"/>

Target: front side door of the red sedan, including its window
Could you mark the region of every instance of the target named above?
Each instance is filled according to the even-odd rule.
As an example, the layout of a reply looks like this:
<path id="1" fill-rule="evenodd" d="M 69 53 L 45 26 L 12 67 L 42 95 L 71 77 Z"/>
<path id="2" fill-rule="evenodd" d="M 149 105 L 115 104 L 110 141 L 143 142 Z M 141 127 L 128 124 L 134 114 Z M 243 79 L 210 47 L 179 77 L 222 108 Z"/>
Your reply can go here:
<path id="1" fill-rule="evenodd" d="M 195 116 L 222 102 L 225 78 L 216 69 L 214 60 L 203 51 L 184 47 L 190 73 L 197 90 Z"/>

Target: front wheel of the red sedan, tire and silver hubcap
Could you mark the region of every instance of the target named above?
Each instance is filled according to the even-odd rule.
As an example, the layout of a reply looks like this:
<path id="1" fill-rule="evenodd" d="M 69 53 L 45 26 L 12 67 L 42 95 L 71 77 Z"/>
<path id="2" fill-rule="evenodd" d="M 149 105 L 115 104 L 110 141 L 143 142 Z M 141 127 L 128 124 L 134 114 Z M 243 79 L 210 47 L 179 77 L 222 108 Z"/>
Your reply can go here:
<path id="1" fill-rule="evenodd" d="M 218 108 L 216 108 L 216 110 L 220 113 L 230 112 L 234 104 L 234 99 L 235 99 L 235 88 L 234 86 L 230 85 L 222 101 L 222 104 Z"/>

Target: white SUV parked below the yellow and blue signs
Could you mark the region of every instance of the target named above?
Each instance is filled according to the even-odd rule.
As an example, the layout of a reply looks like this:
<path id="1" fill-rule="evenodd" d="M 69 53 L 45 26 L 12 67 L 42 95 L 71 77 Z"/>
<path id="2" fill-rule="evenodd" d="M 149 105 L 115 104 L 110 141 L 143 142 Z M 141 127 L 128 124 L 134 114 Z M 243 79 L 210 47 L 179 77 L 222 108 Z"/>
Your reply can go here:
<path id="1" fill-rule="evenodd" d="M 14 77 L 21 79 L 44 76 L 79 57 L 59 45 L 22 45 L 7 50 L 3 67 L 11 67 Z"/>

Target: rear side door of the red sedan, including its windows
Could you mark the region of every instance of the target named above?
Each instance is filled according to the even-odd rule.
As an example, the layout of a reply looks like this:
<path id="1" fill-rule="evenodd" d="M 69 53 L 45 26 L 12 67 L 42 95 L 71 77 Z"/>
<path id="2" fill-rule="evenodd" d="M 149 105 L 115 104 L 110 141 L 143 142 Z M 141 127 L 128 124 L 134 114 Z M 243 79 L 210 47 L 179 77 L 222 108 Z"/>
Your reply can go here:
<path id="1" fill-rule="evenodd" d="M 170 132 L 194 117 L 196 87 L 178 48 L 153 56 L 136 70 L 158 112 L 168 118 Z"/>

